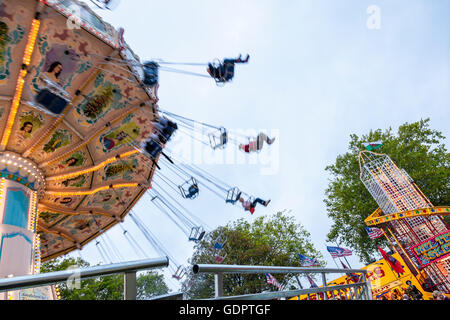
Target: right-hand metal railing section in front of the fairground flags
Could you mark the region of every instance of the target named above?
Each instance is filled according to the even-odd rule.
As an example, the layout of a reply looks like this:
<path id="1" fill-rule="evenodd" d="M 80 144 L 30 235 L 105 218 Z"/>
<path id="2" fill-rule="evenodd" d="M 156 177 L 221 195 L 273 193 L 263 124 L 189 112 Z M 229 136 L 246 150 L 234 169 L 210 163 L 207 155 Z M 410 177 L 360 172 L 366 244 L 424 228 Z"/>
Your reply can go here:
<path id="1" fill-rule="evenodd" d="M 345 297 L 351 300 L 372 300 L 372 290 L 370 281 L 366 280 L 367 270 L 362 269 L 324 269 L 324 268 L 305 268 L 305 267 L 276 267 L 276 266 L 240 266 L 240 265 L 217 265 L 217 264 L 198 264 L 194 265 L 192 269 L 194 274 L 197 273 L 214 273 L 214 287 L 215 298 L 217 300 L 270 300 L 279 298 L 291 298 L 295 296 L 308 295 L 308 300 L 311 294 L 323 293 L 323 299 L 328 299 L 328 293 L 332 298 L 336 297 L 335 292 L 338 292 L 338 297 L 341 297 L 341 291 L 344 292 Z M 255 294 L 246 294 L 239 296 L 223 295 L 223 274 L 226 273 L 293 273 L 298 274 L 321 274 L 322 287 L 315 287 L 309 289 L 262 292 Z M 345 285 L 328 286 L 326 274 L 328 273 L 355 273 L 362 276 L 359 277 L 359 282 Z M 298 278 L 297 278 L 298 280 Z M 336 297 L 337 298 L 337 297 Z"/>

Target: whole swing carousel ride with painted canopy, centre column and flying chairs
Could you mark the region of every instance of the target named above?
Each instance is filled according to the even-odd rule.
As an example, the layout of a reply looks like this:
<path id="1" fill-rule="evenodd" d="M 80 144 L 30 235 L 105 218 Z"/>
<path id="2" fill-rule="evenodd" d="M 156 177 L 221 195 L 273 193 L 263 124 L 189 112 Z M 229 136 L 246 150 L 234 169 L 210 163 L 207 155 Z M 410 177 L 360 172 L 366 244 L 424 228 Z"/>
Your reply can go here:
<path id="1" fill-rule="evenodd" d="M 202 189 L 246 210 L 256 202 L 183 163 L 166 145 L 173 134 L 189 137 L 198 124 L 201 142 L 214 150 L 229 142 L 260 149 L 262 142 L 160 108 L 158 74 L 201 76 L 223 86 L 248 56 L 141 63 L 124 42 L 124 30 L 105 23 L 93 4 L 113 9 L 117 2 L 0 2 L 0 277 L 38 273 L 41 261 L 92 241 L 107 261 L 107 245 L 99 239 L 107 239 L 105 232 L 117 224 L 133 248 L 144 251 L 121 224 L 130 216 L 181 279 L 186 269 L 133 211 L 139 199 L 148 194 L 188 241 L 211 241 L 212 259 L 219 263 L 226 239 L 208 238 L 207 227 L 181 202 L 197 199 Z M 167 65 L 206 68 L 193 73 Z"/>

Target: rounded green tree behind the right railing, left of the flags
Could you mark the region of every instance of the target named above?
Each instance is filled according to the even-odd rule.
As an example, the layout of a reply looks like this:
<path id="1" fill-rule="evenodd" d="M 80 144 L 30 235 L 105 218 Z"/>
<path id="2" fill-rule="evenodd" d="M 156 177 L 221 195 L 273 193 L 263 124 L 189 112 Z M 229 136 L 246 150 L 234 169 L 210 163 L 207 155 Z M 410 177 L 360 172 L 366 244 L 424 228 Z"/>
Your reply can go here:
<path id="1" fill-rule="evenodd" d="M 214 240 L 220 237 L 227 241 L 222 251 L 217 252 L 213 247 Z M 190 260 L 192 264 L 216 263 L 214 257 L 218 253 L 225 256 L 225 264 L 300 266 L 298 253 L 314 257 L 324 264 L 322 255 L 311 243 L 310 234 L 283 212 L 259 217 L 253 224 L 239 219 L 217 228 L 208 239 L 195 246 Z M 275 277 L 284 288 L 289 289 L 296 284 L 293 274 L 276 274 Z M 264 274 L 224 274 L 223 280 L 225 295 L 274 290 L 267 284 Z M 190 298 L 210 298 L 214 296 L 214 275 L 188 274 L 183 286 Z"/>

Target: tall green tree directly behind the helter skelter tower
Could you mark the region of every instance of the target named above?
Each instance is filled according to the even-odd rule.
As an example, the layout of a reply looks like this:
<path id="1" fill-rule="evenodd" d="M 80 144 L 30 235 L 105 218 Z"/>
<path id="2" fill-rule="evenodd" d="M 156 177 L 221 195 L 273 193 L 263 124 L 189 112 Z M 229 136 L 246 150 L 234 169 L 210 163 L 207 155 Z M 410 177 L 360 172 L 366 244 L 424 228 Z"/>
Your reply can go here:
<path id="1" fill-rule="evenodd" d="M 381 140 L 383 146 L 376 150 L 385 153 L 408 172 L 419 188 L 435 206 L 450 204 L 450 155 L 441 132 L 429 127 L 429 119 L 401 125 L 394 133 L 391 128 L 370 131 L 358 137 L 350 135 L 349 151 L 339 155 L 326 171 L 331 179 L 324 202 L 333 225 L 328 240 L 344 243 L 369 263 L 377 252 L 377 245 L 385 244 L 384 238 L 371 240 L 365 231 L 364 219 L 377 203 L 359 179 L 358 153 L 363 143 Z M 448 222 L 447 222 L 448 223 Z"/>

